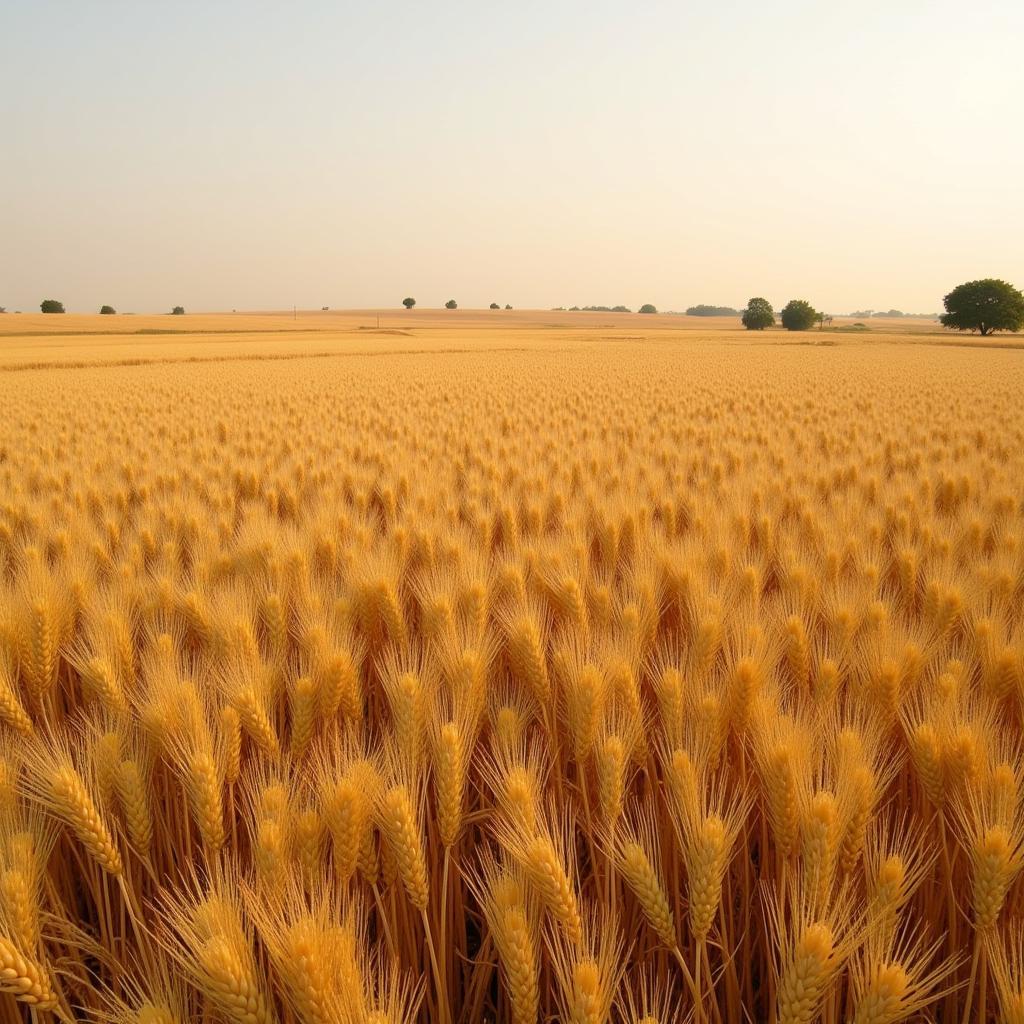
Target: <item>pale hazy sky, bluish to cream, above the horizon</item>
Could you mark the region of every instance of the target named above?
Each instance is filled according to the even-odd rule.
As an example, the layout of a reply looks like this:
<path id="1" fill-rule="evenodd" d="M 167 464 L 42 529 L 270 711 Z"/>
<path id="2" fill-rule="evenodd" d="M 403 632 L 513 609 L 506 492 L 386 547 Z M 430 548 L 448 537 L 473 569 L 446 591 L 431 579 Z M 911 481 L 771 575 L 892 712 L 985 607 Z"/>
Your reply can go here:
<path id="1" fill-rule="evenodd" d="M 0 305 L 1024 286 L 1024 4 L 0 0 Z"/>

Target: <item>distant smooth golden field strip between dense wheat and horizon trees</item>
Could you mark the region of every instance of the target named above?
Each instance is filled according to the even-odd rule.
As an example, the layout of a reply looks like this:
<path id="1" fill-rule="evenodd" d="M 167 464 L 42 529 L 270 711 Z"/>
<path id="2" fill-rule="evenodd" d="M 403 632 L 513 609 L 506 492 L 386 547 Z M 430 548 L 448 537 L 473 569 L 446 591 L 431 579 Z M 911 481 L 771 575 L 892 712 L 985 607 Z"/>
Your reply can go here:
<path id="1" fill-rule="evenodd" d="M 450 348 L 563 348 L 608 341 L 666 343 L 714 339 L 721 343 L 945 345 L 1024 344 L 1017 335 L 981 339 L 943 332 L 918 318 L 858 323 L 836 317 L 831 329 L 752 335 L 738 317 L 539 310 L 368 309 L 267 313 L 197 313 L 186 316 L 43 313 L 0 316 L 0 370 L 37 364 L 77 365 L 143 359 L 238 358 L 257 354 L 381 354 Z M 380 333 L 379 337 L 373 335 Z"/>

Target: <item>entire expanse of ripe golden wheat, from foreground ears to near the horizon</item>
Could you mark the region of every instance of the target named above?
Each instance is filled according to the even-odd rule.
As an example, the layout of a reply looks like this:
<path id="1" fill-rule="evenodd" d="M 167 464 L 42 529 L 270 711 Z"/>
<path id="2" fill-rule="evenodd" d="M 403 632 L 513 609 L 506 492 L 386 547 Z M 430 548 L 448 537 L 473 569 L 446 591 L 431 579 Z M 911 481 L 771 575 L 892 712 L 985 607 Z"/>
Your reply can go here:
<path id="1" fill-rule="evenodd" d="M 1024 1021 L 1021 353 L 546 318 L 2 340 L 3 1020 Z"/>

